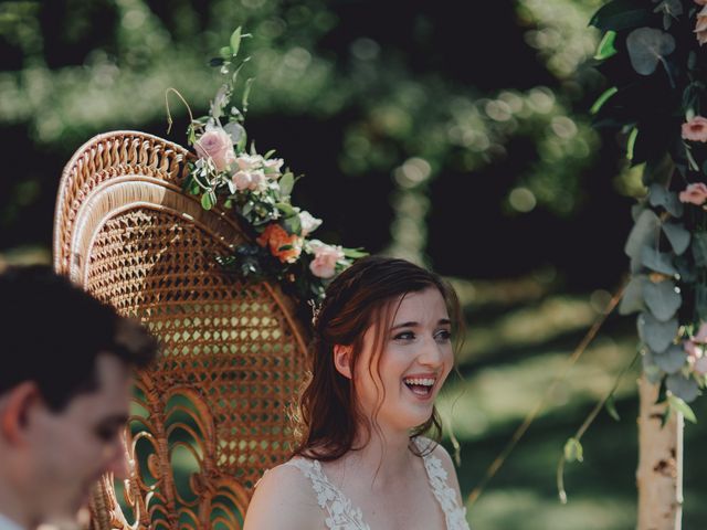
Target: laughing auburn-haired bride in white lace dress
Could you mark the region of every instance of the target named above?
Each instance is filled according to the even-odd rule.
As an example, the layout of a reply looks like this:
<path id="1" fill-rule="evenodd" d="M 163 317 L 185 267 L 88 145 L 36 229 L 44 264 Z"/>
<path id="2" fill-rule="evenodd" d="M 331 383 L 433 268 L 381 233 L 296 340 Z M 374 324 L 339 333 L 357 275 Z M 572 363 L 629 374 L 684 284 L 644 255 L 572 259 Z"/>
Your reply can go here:
<path id="1" fill-rule="evenodd" d="M 245 530 L 468 529 L 449 454 L 422 434 L 454 361 L 456 295 L 403 259 L 368 257 L 328 287 L 294 457 L 258 483 Z"/>

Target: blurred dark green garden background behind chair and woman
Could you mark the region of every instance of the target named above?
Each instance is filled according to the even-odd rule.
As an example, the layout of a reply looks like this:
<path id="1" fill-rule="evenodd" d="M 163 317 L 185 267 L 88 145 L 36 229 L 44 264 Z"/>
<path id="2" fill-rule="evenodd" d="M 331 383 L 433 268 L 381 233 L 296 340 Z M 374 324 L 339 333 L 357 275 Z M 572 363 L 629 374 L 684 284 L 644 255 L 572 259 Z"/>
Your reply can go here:
<path id="1" fill-rule="evenodd" d="M 219 86 L 208 59 L 238 25 L 255 77 L 246 127 L 296 173 L 318 236 L 454 278 L 468 321 L 463 379 L 442 398 L 464 495 L 601 315 L 626 271 L 640 172 L 590 126 L 598 0 L 51 0 L 0 2 L 0 263 L 50 259 L 64 163 L 92 136 L 139 129 L 186 144 Z M 584 463 L 564 441 L 635 352 L 612 316 L 469 510 L 473 528 L 630 529 L 634 369 L 620 423 L 599 416 Z M 707 404 L 695 410 L 707 418 Z M 684 528 L 701 530 L 701 422 L 686 430 Z"/>

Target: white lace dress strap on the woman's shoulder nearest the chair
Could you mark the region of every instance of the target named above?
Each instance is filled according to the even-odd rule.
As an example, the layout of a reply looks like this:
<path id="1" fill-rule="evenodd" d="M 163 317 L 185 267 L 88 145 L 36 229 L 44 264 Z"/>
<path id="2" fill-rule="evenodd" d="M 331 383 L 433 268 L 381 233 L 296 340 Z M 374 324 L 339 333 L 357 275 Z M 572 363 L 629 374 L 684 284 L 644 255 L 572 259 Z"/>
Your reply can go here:
<path id="1" fill-rule="evenodd" d="M 317 504 L 328 515 L 325 523 L 329 530 L 370 530 L 360 508 L 354 508 L 351 500 L 329 481 L 318 460 L 293 458 L 284 465 L 296 467 L 312 481 Z"/>

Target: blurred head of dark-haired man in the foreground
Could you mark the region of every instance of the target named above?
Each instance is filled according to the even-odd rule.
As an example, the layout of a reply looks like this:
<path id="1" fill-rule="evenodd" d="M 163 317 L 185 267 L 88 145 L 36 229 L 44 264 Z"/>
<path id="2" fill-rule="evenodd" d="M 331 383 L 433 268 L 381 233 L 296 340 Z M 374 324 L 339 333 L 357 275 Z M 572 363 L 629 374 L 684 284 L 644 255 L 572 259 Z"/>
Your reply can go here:
<path id="1" fill-rule="evenodd" d="M 130 368 L 156 341 L 48 267 L 0 274 L 0 513 L 72 517 L 105 471 L 124 475 Z"/>

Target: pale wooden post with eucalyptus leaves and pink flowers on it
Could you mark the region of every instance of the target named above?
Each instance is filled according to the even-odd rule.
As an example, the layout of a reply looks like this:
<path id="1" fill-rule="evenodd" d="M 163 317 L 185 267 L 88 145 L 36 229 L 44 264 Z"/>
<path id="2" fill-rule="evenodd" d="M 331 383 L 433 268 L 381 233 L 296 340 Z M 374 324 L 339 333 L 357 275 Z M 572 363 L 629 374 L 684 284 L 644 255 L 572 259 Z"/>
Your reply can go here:
<path id="1" fill-rule="evenodd" d="M 679 529 L 683 418 L 707 373 L 707 0 L 614 0 L 592 18 L 610 88 L 595 125 L 619 129 L 646 195 L 625 245 L 643 375 L 640 530 Z"/>

